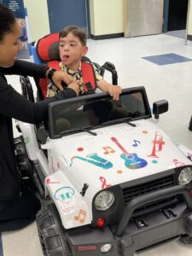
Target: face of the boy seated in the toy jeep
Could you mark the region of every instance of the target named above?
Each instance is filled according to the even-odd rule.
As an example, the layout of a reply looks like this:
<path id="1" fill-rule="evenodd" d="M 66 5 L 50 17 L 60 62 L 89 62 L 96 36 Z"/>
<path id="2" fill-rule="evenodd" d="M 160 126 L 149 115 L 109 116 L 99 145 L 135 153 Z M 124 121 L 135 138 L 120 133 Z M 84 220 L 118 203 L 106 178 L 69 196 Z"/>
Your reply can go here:
<path id="1" fill-rule="evenodd" d="M 83 46 L 79 38 L 69 32 L 67 37 L 60 38 L 60 58 L 64 65 L 76 71 L 79 68 L 81 57 L 86 55 L 87 46 Z"/>

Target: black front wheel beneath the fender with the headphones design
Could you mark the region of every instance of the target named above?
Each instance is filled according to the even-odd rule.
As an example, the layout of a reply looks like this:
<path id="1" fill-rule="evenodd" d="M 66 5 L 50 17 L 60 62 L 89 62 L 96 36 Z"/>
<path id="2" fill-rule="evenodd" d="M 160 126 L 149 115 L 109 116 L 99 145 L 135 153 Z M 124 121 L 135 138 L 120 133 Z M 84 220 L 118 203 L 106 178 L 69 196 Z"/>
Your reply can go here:
<path id="1" fill-rule="evenodd" d="M 37 214 L 38 235 L 46 256 L 72 256 L 65 229 L 54 204 L 44 207 Z"/>

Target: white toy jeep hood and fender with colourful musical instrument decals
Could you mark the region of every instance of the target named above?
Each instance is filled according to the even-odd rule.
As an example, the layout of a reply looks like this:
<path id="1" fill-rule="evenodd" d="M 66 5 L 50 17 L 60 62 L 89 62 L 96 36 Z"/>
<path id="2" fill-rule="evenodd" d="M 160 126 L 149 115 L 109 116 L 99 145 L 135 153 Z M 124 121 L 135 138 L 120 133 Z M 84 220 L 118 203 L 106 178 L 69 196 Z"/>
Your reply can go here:
<path id="1" fill-rule="evenodd" d="M 191 164 L 171 138 L 150 120 L 138 120 L 134 124 L 135 127 L 124 123 L 95 129 L 96 136 L 79 132 L 51 140 L 49 168 L 53 174 L 47 180 L 60 183 L 54 187 L 57 190 L 73 189 L 71 195 L 77 195 L 76 199 L 73 196 L 73 207 L 76 207 L 73 219 L 78 218 L 81 210 L 86 212 L 81 224 L 91 222 L 92 199 L 100 190 Z M 56 189 L 53 186 L 49 189 L 55 196 Z M 64 226 L 74 227 L 77 223 Z"/>

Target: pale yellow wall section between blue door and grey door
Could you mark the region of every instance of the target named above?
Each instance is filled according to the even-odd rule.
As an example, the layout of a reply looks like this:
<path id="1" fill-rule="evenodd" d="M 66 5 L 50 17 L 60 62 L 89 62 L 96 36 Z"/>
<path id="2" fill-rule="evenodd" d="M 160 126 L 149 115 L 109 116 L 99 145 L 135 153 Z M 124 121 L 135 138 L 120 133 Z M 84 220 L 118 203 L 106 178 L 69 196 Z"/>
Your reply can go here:
<path id="1" fill-rule="evenodd" d="M 90 33 L 94 36 L 122 33 L 123 0 L 89 0 Z"/>

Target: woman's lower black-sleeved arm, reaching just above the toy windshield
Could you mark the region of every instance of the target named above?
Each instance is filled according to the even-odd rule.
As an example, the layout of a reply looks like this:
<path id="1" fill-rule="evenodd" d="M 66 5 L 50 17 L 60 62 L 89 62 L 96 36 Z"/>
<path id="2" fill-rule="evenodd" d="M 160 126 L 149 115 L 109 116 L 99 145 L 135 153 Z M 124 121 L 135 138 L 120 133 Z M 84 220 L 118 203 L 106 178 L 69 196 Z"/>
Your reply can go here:
<path id="1" fill-rule="evenodd" d="M 77 96 L 75 91 L 67 88 L 48 100 L 36 103 L 29 102 L 0 77 L 0 114 L 27 123 L 35 124 L 47 119 L 49 102 L 75 96 Z"/>

